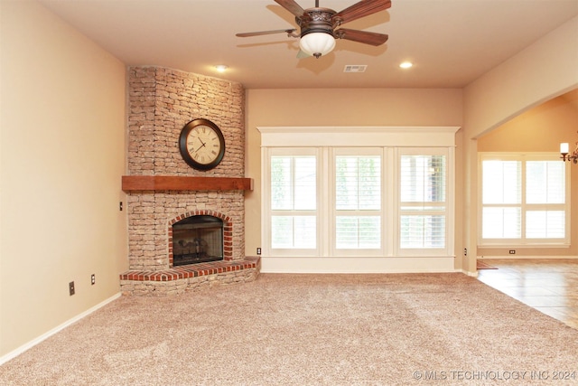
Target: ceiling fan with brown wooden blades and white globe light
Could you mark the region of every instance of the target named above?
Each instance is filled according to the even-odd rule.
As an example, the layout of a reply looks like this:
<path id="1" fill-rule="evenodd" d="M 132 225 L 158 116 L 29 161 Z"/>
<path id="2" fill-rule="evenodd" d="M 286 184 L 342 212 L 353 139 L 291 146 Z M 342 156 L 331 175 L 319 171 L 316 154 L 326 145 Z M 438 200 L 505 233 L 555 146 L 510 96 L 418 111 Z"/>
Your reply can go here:
<path id="1" fill-rule="evenodd" d="M 315 0 L 315 7 L 307 9 L 303 9 L 294 0 L 275 0 L 275 3 L 295 15 L 295 22 L 301 29 L 300 33 L 297 33 L 296 28 L 289 28 L 256 33 L 237 33 L 237 36 L 248 37 L 271 33 L 287 33 L 289 37 L 301 38 L 299 41 L 300 51 L 297 54 L 298 58 L 314 56 L 318 59 L 333 50 L 335 39 L 346 39 L 376 46 L 387 42 L 388 36 L 384 33 L 370 33 L 339 27 L 341 24 L 349 23 L 389 8 L 391 0 L 361 0 L 341 12 L 335 12 L 329 8 L 320 8 L 319 0 Z"/>

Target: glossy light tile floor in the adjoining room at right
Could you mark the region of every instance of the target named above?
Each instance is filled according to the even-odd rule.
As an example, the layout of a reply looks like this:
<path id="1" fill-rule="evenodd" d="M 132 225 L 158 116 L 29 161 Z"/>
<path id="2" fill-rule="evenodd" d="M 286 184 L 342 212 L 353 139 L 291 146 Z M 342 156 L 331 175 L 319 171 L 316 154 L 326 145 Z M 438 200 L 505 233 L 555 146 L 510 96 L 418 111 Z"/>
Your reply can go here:
<path id="1" fill-rule="evenodd" d="M 478 279 L 578 329 L 578 259 L 481 259 Z"/>

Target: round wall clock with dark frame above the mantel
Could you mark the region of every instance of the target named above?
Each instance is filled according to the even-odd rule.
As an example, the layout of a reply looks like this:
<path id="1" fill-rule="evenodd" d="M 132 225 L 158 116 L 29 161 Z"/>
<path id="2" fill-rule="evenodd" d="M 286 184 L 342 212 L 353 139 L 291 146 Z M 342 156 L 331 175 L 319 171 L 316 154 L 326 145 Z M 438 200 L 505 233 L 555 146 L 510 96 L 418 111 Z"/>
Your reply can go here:
<path id="1" fill-rule="evenodd" d="M 179 150 L 182 159 L 198 170 L 219 165 L 225 155 L 225 137 L 209 119 L 193 119 L 181 130 Z"/>

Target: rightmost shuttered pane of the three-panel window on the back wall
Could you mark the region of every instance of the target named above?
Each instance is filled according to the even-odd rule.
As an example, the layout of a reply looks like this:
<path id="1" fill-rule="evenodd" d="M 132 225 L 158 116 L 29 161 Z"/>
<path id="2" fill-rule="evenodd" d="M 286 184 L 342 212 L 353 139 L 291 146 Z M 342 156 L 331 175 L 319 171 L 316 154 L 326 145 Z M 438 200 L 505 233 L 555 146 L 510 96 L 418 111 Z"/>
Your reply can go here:
<path id="1" fill-rule="evenodd" d="M 445 248 L 445 155 L 401 155 L 399 165 L 399 248 Z"/>

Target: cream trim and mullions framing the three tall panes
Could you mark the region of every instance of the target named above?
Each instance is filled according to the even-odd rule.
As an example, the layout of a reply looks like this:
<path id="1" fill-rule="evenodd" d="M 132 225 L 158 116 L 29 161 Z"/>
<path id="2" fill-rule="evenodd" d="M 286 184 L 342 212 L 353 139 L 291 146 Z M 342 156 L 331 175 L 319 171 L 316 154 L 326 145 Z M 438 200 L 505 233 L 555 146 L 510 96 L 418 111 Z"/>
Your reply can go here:
<path id="1" fill-rule="evenodd" d="M 396 198 L 392 196 L 397 196 L 396 187 L 393 186 L 392 180 L 386 178 L 383 182 L 383 192 L 382 196 L 386 200 L 386 196 L 389 199 L 383 204 L 382 211 L 390 213 L 387 216 L 382 215 L 382 248 L 381 251 L 375 255 L 370 253 L 364 253 L 364 249 L 355 250 L 355 258 L 360 257 L 416 257 L 416 258 L 427 258 L 427 257 L 443 257 L 443 258 L 454 258 L 455 253 L 455 235 L 454 235 L 454 224 L 455 224 L 455 134 L 460 129 L 460 127 L 256 127 L 261 134 L 261 192 L 263 194 L 263 200 L 261 205 L 261 216 L 262 216 L 262 245 L 263 254 L 265 257 L 331 257 L 340 258 L 340 256 L 332 255 L 334 248 L 328 248 L 331 244 L 331 233 L 332 228 L 329 227 L 330 221 L 332 220 L 333 211 L 331 210 L 331 200 L 321 200 L 319 195 L 322 192 L 331 192 L 328 190 L 330 184 L 330 176 L 332 176 L 332 171 L 329 169 L 330 155 L 328 148 L 340 148 L 340 147 L 379 147 L 383 148 L 383 164 L 382 164 L 382 174 L 385 175 L 395 175 L 398 179 L 398 171 L 396 169 L 396 148 L 408 147 L 408 148 L 438 148 L 443 147 L 443 151 L 447 152 L 447 181 L 446 181 L 446 202 L 447 202 L 447 219 L 446 219 L 446 241 L 447 244 L 443 250 L 430 251 L 429 249 L 422 250 L 405 250 L 403 255 L 400 255 L 399 249 L 394 248 L 396 240 L 398 240 L 398 229 L 394 228 L 396 225 Z M 269 187 L 266 186 L 268 182 L 268 177 L 270 173 L 269 169 L 269 156 L 275 148 L 314 148 L 317 151 L 321 150 L 321 155 L 318 157 L 320 174 L 318 178 L 318 186 L 320 187 L 318 191 L 318 210 L 323 210 L 322 218 L 318 218 L 318 249 L 317 255 L 302 255 L 298 254 L 297 250 L 284 250 L 282 254 L 275 253 L 271 255 L 270 248 L 270 236 L 268 235 L 268 230 L 266 229 L 266 224 L 268 223 L 267 218 L 270 218 L 270 211 L 268 206 L 270 205 L 268 196 Z M 278 149 L 281 150 L 281 149 Z M 292 150 L 288 150 L 292 151 Z M 388 170 L 386 171 L 386 167 Z M 331 230 L 323 231 L 322 230 Z M 280 252 L 276 250 L 276 252 Z M 346 254 L 343 257 L 352 257 L 353 255 Z"/>

